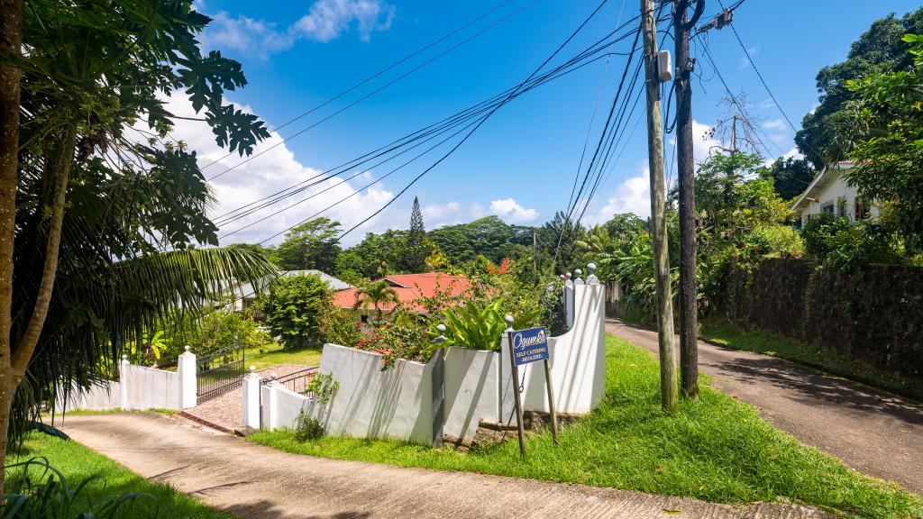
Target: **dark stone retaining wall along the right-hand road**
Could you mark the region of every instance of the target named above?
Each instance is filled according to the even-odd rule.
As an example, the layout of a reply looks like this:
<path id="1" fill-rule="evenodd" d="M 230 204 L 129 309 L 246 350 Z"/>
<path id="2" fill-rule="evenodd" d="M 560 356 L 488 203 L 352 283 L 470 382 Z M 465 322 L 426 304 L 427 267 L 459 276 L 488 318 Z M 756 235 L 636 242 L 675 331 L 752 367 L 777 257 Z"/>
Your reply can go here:
<path id="1" fill-rule="evenodd" d="M 873 265 L 820 272 L 804 259 L 763 259 L 731 271 L 728 317 L 923 381 L 923 269 Z"/>

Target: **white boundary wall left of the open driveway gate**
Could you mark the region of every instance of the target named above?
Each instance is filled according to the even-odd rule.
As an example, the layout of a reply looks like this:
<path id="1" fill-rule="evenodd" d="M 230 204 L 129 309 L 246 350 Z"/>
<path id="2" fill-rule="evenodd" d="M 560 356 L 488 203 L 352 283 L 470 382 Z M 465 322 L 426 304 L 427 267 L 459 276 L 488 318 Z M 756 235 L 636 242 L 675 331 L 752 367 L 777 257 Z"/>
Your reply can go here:
<path id="1" fill-rule="evenodd" d="M 187 349 L 179 356 L 176 371 L 135 366 L 123 356 L 118 381 L 108 380 L 86 391 L 75 388 L 55 411 L 181 410 L 195 405 L 196 356 Z"/>

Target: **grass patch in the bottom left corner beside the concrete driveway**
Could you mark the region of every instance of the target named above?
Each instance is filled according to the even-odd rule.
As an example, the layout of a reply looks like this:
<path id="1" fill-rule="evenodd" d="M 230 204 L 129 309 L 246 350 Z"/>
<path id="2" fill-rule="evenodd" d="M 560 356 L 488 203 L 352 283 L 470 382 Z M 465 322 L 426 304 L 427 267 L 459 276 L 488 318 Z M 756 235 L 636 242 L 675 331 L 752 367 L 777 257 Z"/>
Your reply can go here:
<path id="1" fill-rule="evenodd" d="M 164 483 L 153 483 L 131 472 L 113 460 L 94 453 L 76 441 L 64 441 L 40 433 L 30 433 L 24 449 L 18 456 L 8 460 L 10 464 L 26 461 L 35 456 L 44 456 L 50 465 L 61 471 L 71 489 L 92 476 L 102 480 L 93 481 L 85 490 L 86 504 L 99 502 L 112 495 L 131 492 L 150 494 L 127 501 L 120 508 L 119 517 L 158 519 L 196 517 L 197 519 L 232 519 L 230 513 L 211 508 L 186 494 L 180 493 Z M 36 470 L 33 468 L 33 470 Z M 15 472 L 13 472 L 15 474 Z M 36 472 L 38 476 L 39 472 Z M 78 498 L 79 499 L 79 498 Z"/>

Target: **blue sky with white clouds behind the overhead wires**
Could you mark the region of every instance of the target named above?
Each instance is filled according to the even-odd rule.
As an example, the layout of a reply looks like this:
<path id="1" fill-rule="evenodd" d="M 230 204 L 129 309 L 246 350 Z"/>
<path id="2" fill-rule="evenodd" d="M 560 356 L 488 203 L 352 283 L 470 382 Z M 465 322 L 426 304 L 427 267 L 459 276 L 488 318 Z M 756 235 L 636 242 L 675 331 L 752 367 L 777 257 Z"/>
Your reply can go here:
<path id="1" fill-rule="evenodd" d="M 706 1 L 703 19 L 720 10 L 717 0 Z M 216 203 L 210 215 L 221 222 L 228 211 L 516 86 L 598 5 L 598 0 L 197 0 L 197 9 L 213 18 L 199 38 L 203 49 L 240 61 L 248 80 L 246 88 L 226 92 L 227 101 L 258 115 L 273 131 L 256 149 L 262 154 L 246 163 L 236 154 L 225 157 L 204 123 L 180 121 L 174 138 L 198 151 L 203 174 L 214 177 L 210 184 Z M 710 30 L 692 47 L 698 58 L 692 86 L 696 159 L 721 144 L 720 136 L 707 132 L 725 112 L 719 105 L 725 87 L 701 54 L 703 39 L 731 91 L 746 93 L 749 113 L 766 140 L 763 155 L 771 160 L 797 153 L 795 131 L 744 49 L 797 126 L 817 103 L 814 78 L 822 66 L 845 59 L 850 43 L 873 20 L 892 12 L 902 16 L 920 5 L 919 0 L 745 1 L 733 21 L 744 48 L 729 28 Z M 638 10 L 637 0 L 608 0 L 552 64 L 577 54 Z M 378 78 L 281 127 L 485 13 Z M 672 50 L 668 37 L 660 39 L 663 48 Z M 630 40 L 620 42 L 612 50 L 627 51 L 629 45 Z M 581 153 L 586 148 L 592 154 L 595 148 L 624 66 L 621 55 L 600 59 L 505 104 L 387 209 L 343 236 L 342 244 L 351 246 L 366 232 L 407 228 L 414 196 L 429 229 L 490 214 L 508 223 L 541 224 L 556 211 L 566 211 Z M 168 105 L 174 114 L 193 115 L 181 92 Z M 650 213 L 642 109 L 643 99 L 626 125 L 624 151 L 605 182 L 593 199 L 581 200 L 589 202 L 581 223 L 603 223 L 616 212 Z M 401 160 L 350 170 L 346 176 L 351 180 L 330 179 L 269 209 L 222 223 L 222 245 L 278 243 L 287 228 L 315 214 L 349 229 L 394 199 L 463 135 L 387 177 Z M 671 135 L 666 139 L 670 166 L 675 140 Z M 668 180 L 674 171 L 667 172 Z M 313 198 L 306 199 L 309 195 Z"/>

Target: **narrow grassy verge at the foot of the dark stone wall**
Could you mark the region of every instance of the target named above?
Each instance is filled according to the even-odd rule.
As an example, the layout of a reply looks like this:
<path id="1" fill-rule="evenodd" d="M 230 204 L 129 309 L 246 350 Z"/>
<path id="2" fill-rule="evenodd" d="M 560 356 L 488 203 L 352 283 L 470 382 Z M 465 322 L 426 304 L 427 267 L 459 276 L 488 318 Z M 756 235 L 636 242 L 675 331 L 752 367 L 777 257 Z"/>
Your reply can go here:
<path id="1" fill-rule="evenodd" d="M 923 402 L 923 384 L 863 366 L 855 358 L 833 350 L 800 344 L 770 332 L 747 332 L 726 320 L 704 322 L 699 336 L 709 343 L 785 358 Z"/>

